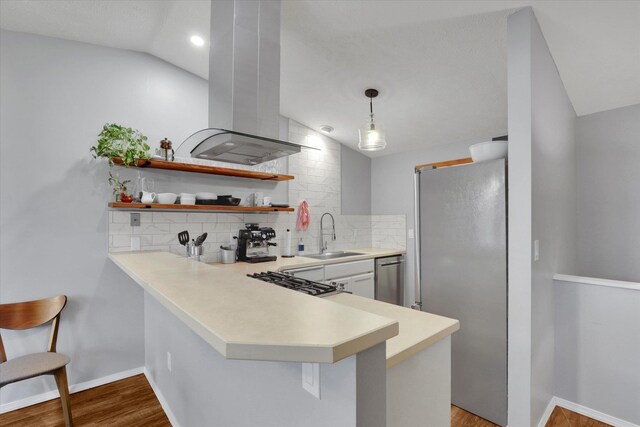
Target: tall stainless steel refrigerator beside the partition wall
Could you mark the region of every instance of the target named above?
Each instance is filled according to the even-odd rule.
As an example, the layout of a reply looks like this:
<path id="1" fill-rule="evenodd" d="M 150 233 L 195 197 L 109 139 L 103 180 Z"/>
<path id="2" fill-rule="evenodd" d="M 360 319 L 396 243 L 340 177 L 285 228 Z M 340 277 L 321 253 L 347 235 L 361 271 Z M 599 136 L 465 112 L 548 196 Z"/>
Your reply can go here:
<path id="1" fill-rule="evenodd" d="M 507 425 L 504 159 L 416 169 L 416 306 L 460 321 L 451 401 Z"/>

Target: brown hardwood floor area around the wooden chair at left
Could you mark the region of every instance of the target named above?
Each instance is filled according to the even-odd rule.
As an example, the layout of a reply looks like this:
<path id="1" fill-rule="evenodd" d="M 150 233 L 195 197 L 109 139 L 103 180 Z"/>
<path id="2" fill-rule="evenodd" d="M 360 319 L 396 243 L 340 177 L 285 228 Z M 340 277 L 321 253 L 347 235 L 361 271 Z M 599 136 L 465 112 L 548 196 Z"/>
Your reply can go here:
<path id="1" fill-rule="evenodd" d="M 171 427 L 142 374 L 72 394 L 71 413 L 75 427 Z M 60 399 L 2 414 L 0 426 L 64 426 Z"/>

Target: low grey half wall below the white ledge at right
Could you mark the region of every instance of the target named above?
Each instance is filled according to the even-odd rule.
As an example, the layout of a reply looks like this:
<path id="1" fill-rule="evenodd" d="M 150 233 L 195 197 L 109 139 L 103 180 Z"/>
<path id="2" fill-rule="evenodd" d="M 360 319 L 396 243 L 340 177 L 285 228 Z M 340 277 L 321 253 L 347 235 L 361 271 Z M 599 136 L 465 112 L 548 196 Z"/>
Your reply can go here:
<path id="1" fill-rule="evenodd" d="M 555 394 L 640 425 L 640 284 L 557 281 Z"/>

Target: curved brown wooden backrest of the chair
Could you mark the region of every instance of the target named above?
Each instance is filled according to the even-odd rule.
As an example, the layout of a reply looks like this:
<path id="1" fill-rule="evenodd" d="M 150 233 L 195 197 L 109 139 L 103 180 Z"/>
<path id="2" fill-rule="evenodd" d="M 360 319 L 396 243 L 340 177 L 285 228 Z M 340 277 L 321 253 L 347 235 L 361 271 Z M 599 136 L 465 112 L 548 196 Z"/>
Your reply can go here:
<path id="1" fill-rule="evenodd" d="M 36 301 L 0 304 L 0 328 L 30 329 L 53 320 L 51 337 L 49 339 L 49 351 L 56 351 L 60 312 L 66 304 L 66 295 L 58 295 Z M 0 363 L 6 361 L 7 355 L 4 351 L 4 345 L 2 344 L 2 336 L 0 336 Z"/>

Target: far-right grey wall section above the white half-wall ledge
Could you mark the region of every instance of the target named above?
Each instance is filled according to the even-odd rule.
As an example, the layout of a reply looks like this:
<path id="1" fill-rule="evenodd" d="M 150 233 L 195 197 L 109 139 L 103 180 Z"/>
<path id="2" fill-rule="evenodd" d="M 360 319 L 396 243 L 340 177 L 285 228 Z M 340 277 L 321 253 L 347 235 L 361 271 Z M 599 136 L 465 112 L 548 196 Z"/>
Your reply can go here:
<path id="1" fill-rule="evenodd" d="M 578 118 L 578 271 L 640 282 L 640 105 Z"/>

